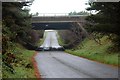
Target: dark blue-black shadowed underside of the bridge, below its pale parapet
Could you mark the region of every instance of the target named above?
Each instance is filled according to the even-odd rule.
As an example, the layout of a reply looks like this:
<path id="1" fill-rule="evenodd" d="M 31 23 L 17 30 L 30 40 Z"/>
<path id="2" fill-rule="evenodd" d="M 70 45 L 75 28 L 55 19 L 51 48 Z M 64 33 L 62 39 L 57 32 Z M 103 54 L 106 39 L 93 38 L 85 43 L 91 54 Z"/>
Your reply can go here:
<path id="1" fill-rule="evenodd" d="M 56 22 L 56 23 L 32 23 L 35 30 L 65 30 L 72 27 L 72 22 Z"/>

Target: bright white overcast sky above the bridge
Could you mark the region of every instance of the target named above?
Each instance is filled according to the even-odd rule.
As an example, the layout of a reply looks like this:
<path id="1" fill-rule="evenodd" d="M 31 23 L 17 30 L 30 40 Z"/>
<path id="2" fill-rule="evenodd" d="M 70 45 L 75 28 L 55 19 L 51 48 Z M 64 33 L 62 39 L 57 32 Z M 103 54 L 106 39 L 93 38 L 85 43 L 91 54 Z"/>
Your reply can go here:
<path id="1" fill-rule="evenodd" d="M 30 6 L 30 13 L 38 12 L 40 15 L 48 13 L 70 13 L 73 11 L 85 11 L 89 5 L 85 5 L 88 0 L 34 0 Z"/>

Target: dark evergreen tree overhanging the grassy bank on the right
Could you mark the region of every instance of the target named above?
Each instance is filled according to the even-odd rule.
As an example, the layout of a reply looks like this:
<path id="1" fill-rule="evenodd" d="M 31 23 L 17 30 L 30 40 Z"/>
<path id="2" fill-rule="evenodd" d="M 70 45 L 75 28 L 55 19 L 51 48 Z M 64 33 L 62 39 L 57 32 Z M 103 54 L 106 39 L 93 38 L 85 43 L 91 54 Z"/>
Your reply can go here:
<path id="1" fill-rule="evenodd" d="M 89 22 L 87 24 L 88 31 L 107 35 L 115 34 L 116 36 L 112 36 L 113 42 L 120 47 L 120 2 L 90 2 L 89 5 L 87 10 L 95 10 L 97 13 L 86 18 Z"/>

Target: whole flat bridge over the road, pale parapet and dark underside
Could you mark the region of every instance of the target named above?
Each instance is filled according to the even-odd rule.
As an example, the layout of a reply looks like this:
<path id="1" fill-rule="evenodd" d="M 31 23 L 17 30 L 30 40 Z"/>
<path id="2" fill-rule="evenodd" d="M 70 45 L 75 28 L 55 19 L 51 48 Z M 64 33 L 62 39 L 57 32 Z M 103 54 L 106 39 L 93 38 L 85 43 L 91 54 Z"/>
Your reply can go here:
<path id="1" fill-rule="evenodd" d="M 35 30 L 46 30 L 46 29 L 70 29 L 72 23 L 85 23 L 85 15 L 74 15 L 74 16 L 33 16 L 32 26 Z"/>

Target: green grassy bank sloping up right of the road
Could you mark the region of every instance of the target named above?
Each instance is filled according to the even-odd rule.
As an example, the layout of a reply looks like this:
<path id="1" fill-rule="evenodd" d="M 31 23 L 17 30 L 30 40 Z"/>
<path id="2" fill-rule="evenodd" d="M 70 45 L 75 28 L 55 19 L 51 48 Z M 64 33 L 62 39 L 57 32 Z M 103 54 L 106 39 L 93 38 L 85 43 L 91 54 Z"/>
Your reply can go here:
<path id="1" fill-rule="evenodd" d="M 101 38 L 101 43 L 102 44 L 99 45 L 94 40 L 85 39 L 82 45 L 79 45 L 76 49 L 65 51 L 76 56 L 118 66 L 119 52 L 115 53 L 108 50 L 108 48 L 112 46 L 112 42 L 106 37 L 103 37 Z"/>

